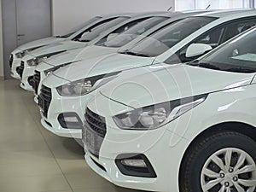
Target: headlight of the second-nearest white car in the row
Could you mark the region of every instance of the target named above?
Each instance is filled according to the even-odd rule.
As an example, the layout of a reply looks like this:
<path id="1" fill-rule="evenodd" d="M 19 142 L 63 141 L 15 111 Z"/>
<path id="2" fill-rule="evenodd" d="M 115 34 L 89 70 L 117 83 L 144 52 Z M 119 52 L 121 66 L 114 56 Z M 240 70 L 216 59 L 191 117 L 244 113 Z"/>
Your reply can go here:
<path id="1" fill-rule="evenodd" d="M 92 90 L 96 90 L 103 84 L 117 77 L 120 72 L 97 75 L 94 77 L 80 79 L 72 83 L 64 84 L 57 87 L 61 96 L 84 96 Z"/>

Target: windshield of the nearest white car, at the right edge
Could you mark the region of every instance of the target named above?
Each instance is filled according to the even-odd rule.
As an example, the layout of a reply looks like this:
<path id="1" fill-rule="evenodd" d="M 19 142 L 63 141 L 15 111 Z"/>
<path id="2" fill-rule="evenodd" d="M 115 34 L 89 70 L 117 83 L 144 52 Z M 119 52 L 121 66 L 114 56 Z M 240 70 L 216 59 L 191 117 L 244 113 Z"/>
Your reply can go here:
<path id="1" fill-rule="evenodd" d="M 256 72 L 256 28 L 231 40 L 200 61 L 188 63 L 192 66 L 214 70 L 255 73 Z"/>

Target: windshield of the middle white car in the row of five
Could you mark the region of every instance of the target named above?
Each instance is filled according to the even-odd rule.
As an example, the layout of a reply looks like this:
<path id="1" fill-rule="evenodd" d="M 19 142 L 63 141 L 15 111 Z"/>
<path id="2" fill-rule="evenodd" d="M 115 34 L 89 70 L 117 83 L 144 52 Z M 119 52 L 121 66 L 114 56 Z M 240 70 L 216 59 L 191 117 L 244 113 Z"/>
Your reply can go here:
<path id="1" fill-rule="evenodd" d="M 103 45 L 106 47 L 115 47 L 119 48 L 131 42 L 134 38 L 137 38 L 139 35 L 143 34 L 143 32 L 148 31 L 148 29 L 156 26 L 160 22 L 167 20 L 168 17 L 152 17 L 148 20 L 143 20 L 142 22 L 138 23 L 136 26 L 132 26 L 130 29 L 122 32 L 117 37 L 112 38 L 105 42 Z"/>

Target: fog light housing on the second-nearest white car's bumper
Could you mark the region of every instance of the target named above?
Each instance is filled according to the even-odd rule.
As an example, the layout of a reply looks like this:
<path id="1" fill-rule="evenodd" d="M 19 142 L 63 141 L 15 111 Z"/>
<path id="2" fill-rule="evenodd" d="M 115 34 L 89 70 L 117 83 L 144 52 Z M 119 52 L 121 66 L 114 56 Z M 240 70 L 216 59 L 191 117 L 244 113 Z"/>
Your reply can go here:
<path id="1" fill-rule="evenodd" d="M 58 121 L 64 129 L 82 129 L 83 126 L 77 113 L 61 113 Z"/>

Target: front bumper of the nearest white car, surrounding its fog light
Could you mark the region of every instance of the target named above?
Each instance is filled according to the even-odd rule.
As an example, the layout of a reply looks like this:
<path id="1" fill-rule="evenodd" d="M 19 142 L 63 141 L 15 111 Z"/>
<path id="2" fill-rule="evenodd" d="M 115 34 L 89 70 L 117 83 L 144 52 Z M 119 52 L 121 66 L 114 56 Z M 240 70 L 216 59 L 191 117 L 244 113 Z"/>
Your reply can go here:
<path id="1" fill-rule="evenodd" d="M 96 173 L 111 183 L 125 188 L 150 191 L 179 191 L 179 167 L 189 141 L 170 131 L 176 127 L 176 120 L 155 130 L 128 131 L 119 129 L 112 119 L 113 114 L 127 110 L 127 106 L 113 102 L 107 97 L 97 95 L 95 102 L 90 102 L 88 108 L 96 115 L 100 115 L 100 119 L 105 119 L 105 124 L 107 125 L 106 135 L 102 139 L 98 139 L 99 135 L 96 131 L 92 132 L 92 136 L 95 136 L 96 139 L 91 137 L 92 129 L 86 128 L 86 126 L 90 125 L 89 121 L 83 127 L 82 141 L 86 153 L 84 158 Z M 100 111 L 99 113 L 96 112 L 96 108 Z M 96 125 L 101 124 L 96 123 Z M 88 144 L 88 141 L 93 141 L 90 142 L 93 144 Z M 98 155 L 93 152 L 93 145 L 96 146 L 95 148 L 100 146 L 99 150 L 96 149 L 96 151 L 99 151 Z M 143 177 L 139 176 L 140 174 L 135 177 L 131 176 L 132 174 L 127 175 L 122 172 L 117 165 L 116 159 L 120 155 L 126 154 L 143 154 L 147 157 L 156 177 Z"/>

